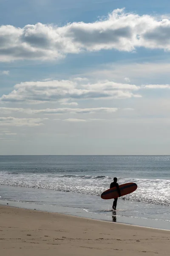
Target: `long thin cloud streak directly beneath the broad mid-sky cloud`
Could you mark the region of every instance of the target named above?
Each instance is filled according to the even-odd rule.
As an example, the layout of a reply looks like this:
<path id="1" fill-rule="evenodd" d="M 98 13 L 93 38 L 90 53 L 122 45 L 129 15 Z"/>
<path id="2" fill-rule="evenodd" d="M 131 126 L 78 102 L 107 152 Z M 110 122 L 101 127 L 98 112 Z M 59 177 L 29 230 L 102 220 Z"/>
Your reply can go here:
<path id="1" fill-rule="evenodd" d="M 46 108 L 46 109 L 31 109 L 31 108 L 0 108 L 0 113 L 9 114 L 14 112 L 27 114 L 88 114 L 88 113 L 114 113 L 118 108 Z"/>

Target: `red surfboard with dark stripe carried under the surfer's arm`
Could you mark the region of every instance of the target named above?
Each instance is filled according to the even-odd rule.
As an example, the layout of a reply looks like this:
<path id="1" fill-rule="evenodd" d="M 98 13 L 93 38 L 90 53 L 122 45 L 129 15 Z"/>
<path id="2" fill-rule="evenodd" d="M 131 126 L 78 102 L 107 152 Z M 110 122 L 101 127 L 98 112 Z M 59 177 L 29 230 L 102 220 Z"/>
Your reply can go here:
<path id="1" fill-rule="evenodd" d="M 136 185 L 136 183 L 133 183 L 133 182 L 120 185 L 119 189 L 120 189 L 121 196 L 134 192 L 137 189 L 137 187 L 138 186 Z M 118 197 L 119 197 L 119 194 L 117 192 L 116 187 L 107 189 L 101 195 L 102 199 L 113 199 L 113 198 L 118 198 Z"/>

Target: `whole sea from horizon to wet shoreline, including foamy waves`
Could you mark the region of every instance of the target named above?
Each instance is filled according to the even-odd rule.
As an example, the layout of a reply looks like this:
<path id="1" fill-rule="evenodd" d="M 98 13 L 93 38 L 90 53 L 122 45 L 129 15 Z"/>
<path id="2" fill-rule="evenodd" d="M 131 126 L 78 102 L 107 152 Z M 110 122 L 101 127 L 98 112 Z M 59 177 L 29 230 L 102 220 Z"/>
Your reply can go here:
<path id="1" fill-rule="evenodd" d="M 116 212 L 113 177 L 138 185 Z M 0 204 L 170 230 L 170 156 L 0 156 Z"/>

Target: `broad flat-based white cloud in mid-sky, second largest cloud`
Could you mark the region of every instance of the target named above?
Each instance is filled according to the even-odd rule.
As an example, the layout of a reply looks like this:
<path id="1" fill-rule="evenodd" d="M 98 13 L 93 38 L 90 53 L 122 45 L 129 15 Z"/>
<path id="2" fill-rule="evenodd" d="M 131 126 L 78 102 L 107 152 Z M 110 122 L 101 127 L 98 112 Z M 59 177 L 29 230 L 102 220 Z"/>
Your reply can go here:
<path id="1" fill-rule="evenodd" d="M 22 82 L 14 86 L 8 95 L 3 95 L 3 102 L 67 102 L 70 99 L 126 99 L 140 97 L 132 91 L 139 90 L 134 84 L 121 84 L 113 81 L 98 81 L 81 84 L 73 80 L 52 80 Z"/>

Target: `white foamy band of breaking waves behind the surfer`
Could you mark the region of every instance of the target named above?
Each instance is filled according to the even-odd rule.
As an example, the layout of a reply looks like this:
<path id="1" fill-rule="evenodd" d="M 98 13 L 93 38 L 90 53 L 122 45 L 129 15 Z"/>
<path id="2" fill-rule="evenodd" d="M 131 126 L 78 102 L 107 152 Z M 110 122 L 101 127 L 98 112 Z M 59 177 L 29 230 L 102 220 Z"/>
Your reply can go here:
<path id="1" fill-rule="evenodd" d="M 99 175 L 59 176 L 54 173 L 0 172 L 1 185 L 69 191 L 87 195 L 100 195 L 109 188 L 112 179 L 113 177 Z M 135 182 L 138 189 L 122 199 L 170 206 L 170 180 L 119 178 L 119 184 L 127 182 Z"/>

